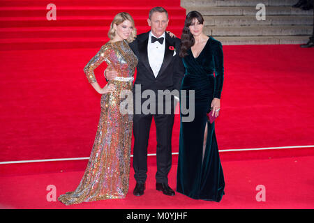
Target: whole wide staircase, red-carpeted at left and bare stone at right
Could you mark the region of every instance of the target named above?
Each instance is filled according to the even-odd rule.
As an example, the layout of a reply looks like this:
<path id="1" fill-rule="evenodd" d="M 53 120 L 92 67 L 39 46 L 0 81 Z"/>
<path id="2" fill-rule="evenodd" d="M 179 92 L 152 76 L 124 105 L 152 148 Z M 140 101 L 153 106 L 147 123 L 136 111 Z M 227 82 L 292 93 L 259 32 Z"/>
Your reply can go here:
<path id="1" fill-rule="evenodd" d="M 133 15 L 137 33 L 149 30 L 147 17 L 154 6 L 170 15 L 168 30 L 181 36 L 184 18 L 198 10 L 205 19 L 205 33 L 223 45 L 300 44 L 313 29 L 313 10 L 291 6 L 297 0 L 0 0 L 0 50 L 68 49 L 100 47 L 114 15 Z M 57 20 L 47 20 L 49 3 L 57 7 Z M 264 3 L 266 20 L 255 17 L 257 3 Z M 186 12 L 184 8 L 186 8 Z"/>

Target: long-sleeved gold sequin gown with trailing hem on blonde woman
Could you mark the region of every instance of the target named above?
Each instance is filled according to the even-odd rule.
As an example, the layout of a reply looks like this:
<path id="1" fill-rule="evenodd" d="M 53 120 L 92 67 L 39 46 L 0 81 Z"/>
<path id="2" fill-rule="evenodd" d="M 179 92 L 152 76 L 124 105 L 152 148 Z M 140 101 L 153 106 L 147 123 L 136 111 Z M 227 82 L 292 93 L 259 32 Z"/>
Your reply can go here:
<path id="1" fill-rule="evenodd" d="M 116 90 L 101 97 L 100 120 L 87 169 L 76 190 L 58 198 L 66 205 L 123 199 L 128 193 L 133 116 L 121 113 L 119 107 L 126 98 L 131 98 L 120 98 L 120 93 L 122 90 L 132 92 L 137 57 L 126 40 L 106 43 L 84 68 L 89 83 L 96 82 L 94 69 L 103 61 L 119 72 L 118 77 L 109 81 Z"/>

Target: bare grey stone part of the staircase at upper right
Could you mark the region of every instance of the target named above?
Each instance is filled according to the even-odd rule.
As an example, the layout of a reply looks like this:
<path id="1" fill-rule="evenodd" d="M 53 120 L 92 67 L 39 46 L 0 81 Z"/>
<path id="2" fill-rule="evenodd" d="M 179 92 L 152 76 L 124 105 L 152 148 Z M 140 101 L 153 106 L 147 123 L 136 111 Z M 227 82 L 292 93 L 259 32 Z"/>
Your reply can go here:
<path id="1" fill-rule="evenodd" d="M 266 20 L 258 21 L 263 3 Z M 223 45 L 306 43 L 313 30 L 313 10 L 292 8 L 297 0 L 181 0 L 186 13 L 204 15 L 205 33 Z"/>

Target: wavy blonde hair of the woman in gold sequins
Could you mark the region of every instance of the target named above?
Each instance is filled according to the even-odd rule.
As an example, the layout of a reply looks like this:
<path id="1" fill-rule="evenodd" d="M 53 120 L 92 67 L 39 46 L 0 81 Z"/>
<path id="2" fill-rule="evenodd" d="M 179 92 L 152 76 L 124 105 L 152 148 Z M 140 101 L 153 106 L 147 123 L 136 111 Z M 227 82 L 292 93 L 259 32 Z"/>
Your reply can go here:
<path id="1" fill-rule="evenodd" d="M 108 31 L 108 37 L 110 38 L 110 40 L 112 40 L 114 36 L 116 36 L 116 31 L 114 30 L 114 24 L 119 26 L 119 24 L 121 24 L 122 22 L 126 20 L 130 21 L 133 26 L 133 31 L 130 33 L 130 36 L 126 39 L 126 41 L 128 41 L 128 43 L 131 43 L 133 40 L 135 40 L 136 29 L 135 29 L 134 20 L 133 20 L 133 17 L 130 16 L 130 14 L 128 13 L 118 13 L 116 16 L 114 16 L 114 20 L 112 20 L 110 29 Z"/>

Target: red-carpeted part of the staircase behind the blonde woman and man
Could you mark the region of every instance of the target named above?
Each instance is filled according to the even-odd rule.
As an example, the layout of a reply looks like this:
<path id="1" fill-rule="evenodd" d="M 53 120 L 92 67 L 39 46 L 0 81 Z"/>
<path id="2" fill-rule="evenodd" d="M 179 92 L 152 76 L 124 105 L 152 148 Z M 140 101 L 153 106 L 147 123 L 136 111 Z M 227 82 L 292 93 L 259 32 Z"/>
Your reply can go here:
<path id="1" fill-rule="evenodd" d="M 56 20 L 47 20 L 49 3 L 57 7 Z M 130 13 L 137 33 L 143 33 L 149 31 L 147 18 L 155 6 L 167 9 L 168 29 L 180 36 L 186 14 L 179 0 L 1 0 L 0 50 L 98 48 L 109 40 L 114 15 Z"/>

